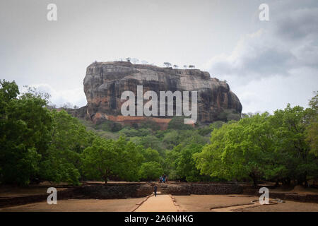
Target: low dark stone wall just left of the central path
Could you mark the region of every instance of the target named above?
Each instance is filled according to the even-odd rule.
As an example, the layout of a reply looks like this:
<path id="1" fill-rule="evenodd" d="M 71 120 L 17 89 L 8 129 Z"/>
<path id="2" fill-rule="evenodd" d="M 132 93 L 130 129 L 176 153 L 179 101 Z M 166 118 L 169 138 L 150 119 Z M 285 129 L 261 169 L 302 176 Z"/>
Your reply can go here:
<path id="1" fill-rule="evenodd" d="M 83 198 L 139 198 L 153 192 L 150 184 L 101 184 L 81 186 L 76 189 L 78 196 Z"/>

